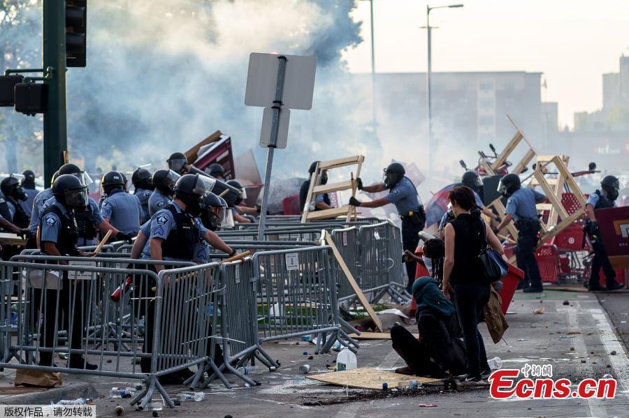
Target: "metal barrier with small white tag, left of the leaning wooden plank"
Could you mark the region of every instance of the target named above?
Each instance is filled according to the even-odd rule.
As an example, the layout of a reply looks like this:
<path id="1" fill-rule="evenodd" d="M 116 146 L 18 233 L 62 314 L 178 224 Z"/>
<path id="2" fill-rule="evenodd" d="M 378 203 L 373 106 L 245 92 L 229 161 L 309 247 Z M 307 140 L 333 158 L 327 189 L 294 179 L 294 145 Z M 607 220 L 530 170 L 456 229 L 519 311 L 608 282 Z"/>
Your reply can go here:
<path id="1" fill-rule="evenodd" d="M 254 254 L 259 343 L 312 335 L 317 352 L 328 352 L 337 340 L 358 347 L 341 329 L 330 257 L 328 246 Z"/>

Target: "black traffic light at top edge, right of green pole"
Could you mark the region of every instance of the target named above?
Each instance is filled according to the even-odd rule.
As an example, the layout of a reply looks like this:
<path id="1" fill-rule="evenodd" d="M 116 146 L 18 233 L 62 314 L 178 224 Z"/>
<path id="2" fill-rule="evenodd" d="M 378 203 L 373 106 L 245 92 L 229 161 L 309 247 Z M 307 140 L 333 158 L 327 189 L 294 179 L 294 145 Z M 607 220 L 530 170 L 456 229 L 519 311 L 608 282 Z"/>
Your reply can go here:
<path id="1" fill-rule="evenodd" d="M 66 66 L 85 67 L 87 0 L 66 0 Z"/>

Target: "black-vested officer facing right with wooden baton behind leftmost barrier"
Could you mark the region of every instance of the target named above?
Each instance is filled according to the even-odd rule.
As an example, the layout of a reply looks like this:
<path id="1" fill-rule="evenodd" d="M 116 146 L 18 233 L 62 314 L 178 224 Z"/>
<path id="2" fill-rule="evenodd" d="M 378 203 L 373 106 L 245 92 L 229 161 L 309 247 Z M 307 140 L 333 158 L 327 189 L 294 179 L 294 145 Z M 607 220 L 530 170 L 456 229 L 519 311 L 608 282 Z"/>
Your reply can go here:
<path id="1" fill-rule="evenodd" d="M 75 220 L 75 211 L 87 207 L 87 186 L 71 174 L 62 174 L 55 179 L 52 184 L 52 194 L 55 201 L 49 204 L 41 214 L 41 235 L 40 248 L 46 255 L 72 255 L 89 256 L 82 253 L 77 248 L 78 226 Z M 66 264 L 61 261 L 60 264 Z M 43 346 L 52 347 L 55 343 L 57 320 L 64 315 L 64 323 L 68 334 L 71 334 L 70 348 L 81 349 L 82 336 L 85 334 L 85 327 L 81 300 L 87 300 L 87 289 L 84 288 L 80 280 L 68 280 L 67 272 L 63 273 L 62 286 L 60 290 L 45 290 L 46 303 L 39 300 L 42 290 L 35 293 L 36 306 L 43 306 Z M 57 313 L 57 297 L 58 308 Z M 71 329 L 69 322 L 72 320 Z M 52 353 L 41 352 L 39 364 L 52 366 Z M 70 354 L 69 366 L 71 368 L 85 368 L 95 370 L 95 364 L 90 364 L 82 354 Z"/>

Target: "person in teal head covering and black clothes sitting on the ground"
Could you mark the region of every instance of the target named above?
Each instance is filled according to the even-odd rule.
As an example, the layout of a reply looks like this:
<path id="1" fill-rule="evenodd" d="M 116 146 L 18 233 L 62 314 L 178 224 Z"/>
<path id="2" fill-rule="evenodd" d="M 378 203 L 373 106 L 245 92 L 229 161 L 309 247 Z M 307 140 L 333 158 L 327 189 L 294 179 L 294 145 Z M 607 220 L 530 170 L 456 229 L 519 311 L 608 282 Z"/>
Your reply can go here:
<path id="1" fill-rule="evenodd" d="M 396 373 L 433 378 L 465 373 L 465 345 L 458 338 L 454 305 L 432 277 L 418 278 L 412 292 L 417 303 L 419 339 L 401 325 L 391 328 L 393 350 L 406 362 Z"/>

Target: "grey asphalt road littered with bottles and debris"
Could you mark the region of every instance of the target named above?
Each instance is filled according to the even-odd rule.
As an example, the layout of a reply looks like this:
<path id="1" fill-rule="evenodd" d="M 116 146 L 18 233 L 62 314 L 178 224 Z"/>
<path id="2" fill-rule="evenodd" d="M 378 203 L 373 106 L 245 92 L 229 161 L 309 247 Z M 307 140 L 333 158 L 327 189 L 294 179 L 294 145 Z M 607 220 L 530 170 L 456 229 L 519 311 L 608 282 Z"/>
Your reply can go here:
<path id="1" fill-rule="evenodd" d="M 298 373 L 302 364 L 310 364 L 311 373 L 325 371 L 335 354 L 314 355 L 308 360 L 304 350 L 312 354 L 312 345 L 291 340 L 266 344 L 270 354 L 280 359 L 282 366 L 275 372 L 254 375 L 259 387 L 244 387 L 234 382 L 226 389 L 218 382 L 206 390 L 206 400 L 182 403 L 178 408 L 164 408 L 161 417 L 628 417 L 629 362 L 626 345 L 616 335 L 614 324 L 605 311 L 613 311 L 612 319 L 627 318 L 623 297 L 628 295 L 547 291 L 540 296 L 516 294 L 510 314 L 505 341 L 493 345 L 482 326 L 490 357 L 500 357 L 503 368 L 520 368 L 523 364 L 551 364 L 554 378 L 601 378 L 610 373 L 618 380 L 616 398 L 606 400 L 548 399 L 497 401 L 489 396 L 487 385 L 461 387 L 444 391 L 443 387 L 426 387 L 414 391 L 347 392 L 308 380 Z M 601 299 L 599 302 L 598 298 Z M 564 301 L 568 304 L 564 305 Z M 533 310 L 544 307 L 544 313 Z M 624 311 L 623 311 L 624 310 Z M 624 315 L 624 317 L 623 317 Z M 624 325 L 624 324 L 623 324 Z M 625 328 L 626 330 L 626 328 Z M 626 331 L 623 331 L 626 332 Z M 626 334 L 623 334 L 626 337 Z M 616 352 L 615 355 L 610 354 Z M 395 368 L 402 364 L 390 341 L 363 342 L 358 353 L 359 367 Z M 228 375 L 229 376 L 229 375 Z M 75 379 L 75 378 L 74 378 Z M 119 400 L 107 397 L 112 386 L 126 382 L 92 379 L 101 398 L 96 399 L 99 417 L 113 417 Z M 182 388 L 168 387 L 169 393 Z M 159 400 L 159 396 L 154 396 Z M 419 406 L 434 404 L 434 407 Z M 124 403 L 122 403 L 124 405 Z M 147 417 L 126 405 L 124 416 Z"/>

